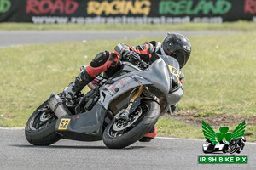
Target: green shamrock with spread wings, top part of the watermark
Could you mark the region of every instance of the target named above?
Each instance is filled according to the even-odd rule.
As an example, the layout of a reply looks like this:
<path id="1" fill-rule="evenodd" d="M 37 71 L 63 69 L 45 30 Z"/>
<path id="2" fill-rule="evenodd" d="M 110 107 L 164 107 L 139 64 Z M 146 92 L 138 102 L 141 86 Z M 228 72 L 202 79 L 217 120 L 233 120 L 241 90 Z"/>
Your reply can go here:
<path id="1" fill-rule="evenodd" d="M 206 139 L 209 139 L 212 144 L 217 144 L 219 141 L 229 142 L 231 139 L 241 139 L 245 132 L 245 121 L 241 122 L 232 133 L 227 133 L 229 127 L 220 127 L 219 132 L 215 133 L 212 127 L 207 122 L 202 121 L 202 132 Z"/>

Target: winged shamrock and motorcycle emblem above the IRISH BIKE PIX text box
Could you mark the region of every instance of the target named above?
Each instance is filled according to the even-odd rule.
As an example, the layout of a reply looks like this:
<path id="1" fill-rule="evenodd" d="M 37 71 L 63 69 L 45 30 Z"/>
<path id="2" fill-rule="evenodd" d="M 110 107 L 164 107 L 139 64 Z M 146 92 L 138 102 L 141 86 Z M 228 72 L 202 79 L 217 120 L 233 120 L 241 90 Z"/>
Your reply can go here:
<path id="1" fill-rule="evenodd" d="M 213 153 L 222 151 L 223 153 L 237 153 L 243 150 L 246 138 L 245 133 L 246 122 L 241 122 L 232 133 L 228 133 L 229 127 L 220 127 L 219 132 L 215 133 L 207 122 L 202 121 L 202 132 L 207 139 L 203 144 L 204 153 Z"/>

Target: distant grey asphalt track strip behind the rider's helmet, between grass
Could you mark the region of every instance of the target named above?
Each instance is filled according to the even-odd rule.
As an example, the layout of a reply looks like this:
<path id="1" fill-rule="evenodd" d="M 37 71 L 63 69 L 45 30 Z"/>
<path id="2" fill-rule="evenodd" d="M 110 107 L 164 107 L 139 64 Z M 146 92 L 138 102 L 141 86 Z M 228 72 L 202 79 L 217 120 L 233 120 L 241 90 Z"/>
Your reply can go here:
<path id="1" fill-rule="evenodd" d="M 91 40 L 124 40 L 137 37 L 165 37 L 167 31 L 0 31 L 0 48 L 33 43 Z M 227 31 L 173 31 L 185 36 L 226 34 Z M 142 42 L 143 43 L 143 42 Z"/>

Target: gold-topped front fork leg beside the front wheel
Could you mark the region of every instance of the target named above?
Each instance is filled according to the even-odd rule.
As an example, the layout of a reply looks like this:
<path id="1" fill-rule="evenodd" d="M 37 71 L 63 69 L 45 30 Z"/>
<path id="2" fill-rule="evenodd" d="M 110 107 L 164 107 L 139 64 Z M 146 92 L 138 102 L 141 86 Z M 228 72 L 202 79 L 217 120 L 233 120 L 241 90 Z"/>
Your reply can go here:
<path id="1" fill-rule="evenodd" d="M 137 102 L 138 102 L 137 98 L 141 96 L 141 94 L 143 93 L 143 89 L 144 89 L 144 86 L 140 86 L 137 89 L 136 93 L 132 96 L 128 107 L 125 109 L 125 111 L 121 115 L 117 116 L 116 119 L 124 118 L 126 121 L 129 120 L 129 115 L 131 112 L 133 112 L 133 108 L 137 107 Z M 136 105 L 136 106 L 135 107 L 133 106 L 131 108 L 132 105 Z M 138 103 L 138 105 L 139 105 L 139 103 Z"/>

